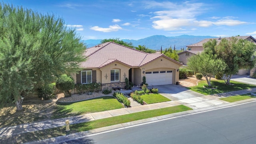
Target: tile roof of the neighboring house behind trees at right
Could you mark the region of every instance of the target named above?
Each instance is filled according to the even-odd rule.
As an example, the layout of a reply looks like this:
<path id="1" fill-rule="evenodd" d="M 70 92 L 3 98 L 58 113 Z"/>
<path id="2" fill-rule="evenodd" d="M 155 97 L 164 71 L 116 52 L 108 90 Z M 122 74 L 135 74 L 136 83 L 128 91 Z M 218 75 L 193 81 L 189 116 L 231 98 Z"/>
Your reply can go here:
<path id="1" fill-rule="evenodd" d="M 252 40 L 254 43 L 256 43 L 256 40 L 255 40 L 252 36 L 235 36 L 235 37 L 238 38 L 238 39 Z M 231 37 L 224 37 L 224 38 L 230 39 Z M 215 40 L 217 40 L 217 42 L 220 42 L 220 40 L 223 39 L 223 38 L 206 38 L 206 39 L 204 39 L 204 40 L 202 40 L 202 41 L 200 41 L 200 42 L 198 42 L 198 43 L 190 44 L 190 45 L 188 45 L 187 47 L 203 46 L 203 44 L 204 44 L 205 42 L 208 42 L 208 40 L 210 40 L 210 39 L 215 39 Z"/>

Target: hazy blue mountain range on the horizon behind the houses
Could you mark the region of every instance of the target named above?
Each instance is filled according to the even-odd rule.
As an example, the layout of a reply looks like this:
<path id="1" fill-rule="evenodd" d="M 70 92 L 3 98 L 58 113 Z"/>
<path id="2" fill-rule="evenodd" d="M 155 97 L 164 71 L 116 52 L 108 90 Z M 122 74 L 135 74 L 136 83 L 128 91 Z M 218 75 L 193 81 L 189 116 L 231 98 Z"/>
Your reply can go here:
<path id="1" fill-rule="evenodd" d="M 146 46 L 146 48 L 150 48 L 152 50 L 160 50 L 165 48 L 172 49 L 175 46 L 175 49 L 180 50 L 184 48 L 186 50 L 186 46 L 190 44 L 194 44 L 197 42 L 200 42 L 201 40 L 204 40 L 205 38 L 216 38 L 214 36 L 191 36 L 191 35 L 181 35 L 181 36 L 163 36 L 163 35 L 154 35 L 149 36 L 147 38 L 142 38 L 139 40 L 128 40 L 128 39 L 122 39 L 124 42 L 132 42 L 133 46 Z M 96 46 L 100 44 L 101 40 L 83 40 L 84 44 L 87 46 L 87 48 L 90 48 L 92 46 Z"/>

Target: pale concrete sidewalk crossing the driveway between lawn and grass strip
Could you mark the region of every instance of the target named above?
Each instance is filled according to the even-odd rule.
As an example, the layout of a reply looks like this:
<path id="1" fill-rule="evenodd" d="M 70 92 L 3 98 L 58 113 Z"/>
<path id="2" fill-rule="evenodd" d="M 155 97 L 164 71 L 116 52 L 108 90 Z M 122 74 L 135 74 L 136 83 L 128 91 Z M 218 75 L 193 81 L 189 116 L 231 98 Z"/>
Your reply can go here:
<path id="1" fill-rule="evenodd" d="M 140 105 L 138 104 L 137 106 L 132 106 L 130 108 L 121 108 L 121 109 L 116 109 L 116 110 L 108 110 L 104 112 L 96 112 L 96 113 L 91 113 L 91 114 L 84 114 L 84 115 L 79 115 L 79 116 L 72 116 L 68 118 L 60 118 L 56 120 L 48 120 L 48 121 L 43 121 L 43 122 L 34 122 L 30 124 L 21 124 L 18 126 L 10 126 L 6 128 L 0 128 L 0 138 L 1 137 L 6 137 L 6 136 L 12 136 L 16 134 L 22 134 L 26 132 L 34 132 L 37 130 L 44 130 L 44 129 L 49 129 L 49 128 L 55 128 L 55 127 L 60 127 L 60 126 L 65 126 L 65 121 L 69 120 L 70 124 L 78 124 L 82 122 L 88 122 L 92 120 L 98 120 L 102 118 L 109 118 L 113 116 L 120 116 L 124 114 L 131 114 L 135 112 L 141 112 L 145 110 L 154 110 L 158 108 L 166 108 L 170 106 L 177 106 L 177 105 L 185 105 L 193 110 L 197 109 L 212 109 L 214 108 L 213 106 L 219 106 L 224 104 L 228 104 L 229 102 L 219 100 L 219 98 L 222 97 L 227 97 L 227 96 L 234 96 L 234 95 L 239 95 L 239 94 L 247 94 L 247 93 L 253 93 L 256 92 L 256 88 L 248 89 L 248 90 L 239 90 L 235 92 L 226 92 L 226 93 L 221 93 L 221 94 L 214 94 L 214 95 L 208 95 L 204 96 L 201 94 L 198 94 L 198 96 L 193 95 L 192 97 L 189 98 L 183 98 L 180 100 L 173 100 L 173 101 L 168 101 L 168 102 L 160 102 L 156 104 L 146 104 L 146 105 Z M 182 92 L 180 92 L 182 93 Z M 189 95 L 190 91 L 188 92 L 183 92 L 185 95 Z M 165 95 L 165 94 L 162 94 Z M 190 94 L 191 95 L 191 94 Z M 252 98 L 247 100 L 248 101 L 254 101 L 256 98 Z M 221 107 L 221 106 L 220 106 Z"/>

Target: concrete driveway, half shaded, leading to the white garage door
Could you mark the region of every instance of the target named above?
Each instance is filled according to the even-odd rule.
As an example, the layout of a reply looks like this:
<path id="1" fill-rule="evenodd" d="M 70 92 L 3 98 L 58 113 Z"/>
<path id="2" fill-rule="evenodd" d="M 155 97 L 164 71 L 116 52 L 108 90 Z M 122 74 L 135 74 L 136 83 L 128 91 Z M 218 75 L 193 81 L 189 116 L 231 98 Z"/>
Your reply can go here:
<path id="1" fill-rule="evenodd" d="M 158 93 L 170 100 L 182 100 L 186 98 L 204 96 L 203 94 L 199 94 L 198 92 L 194 92 L 180 85 L 174 84 L 154 86 L 154 88 L 158 88 Z"/>

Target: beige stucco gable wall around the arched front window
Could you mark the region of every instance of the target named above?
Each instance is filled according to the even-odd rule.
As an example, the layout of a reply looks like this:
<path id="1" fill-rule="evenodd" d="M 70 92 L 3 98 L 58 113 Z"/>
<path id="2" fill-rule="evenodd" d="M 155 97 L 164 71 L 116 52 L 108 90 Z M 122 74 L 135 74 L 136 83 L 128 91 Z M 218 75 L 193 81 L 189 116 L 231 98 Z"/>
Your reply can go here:
<path id="1" fill-rule="evenodd" d="M 120 70 L 120 76 L 119 76 L 119 82 L 125 82 L 124 73 L 126 74 L 126 77 L 129 78 L 129 69 L 130 67 L 121 64 L 119 62 L 114 62 L 112 64 L 109 64 L 103 68 L 101 68 L 101 78 L 102 78 L 102 84 L 110 83 L 111 77 L 110 77 L 110 70 L 113 69 L 119 69 Z M 107 78 L 105 77 L 107 74 Z M 98 76 L 98 74 L 97 74 Z M 114 83 L 114 82 L 113 82 Z"/>

